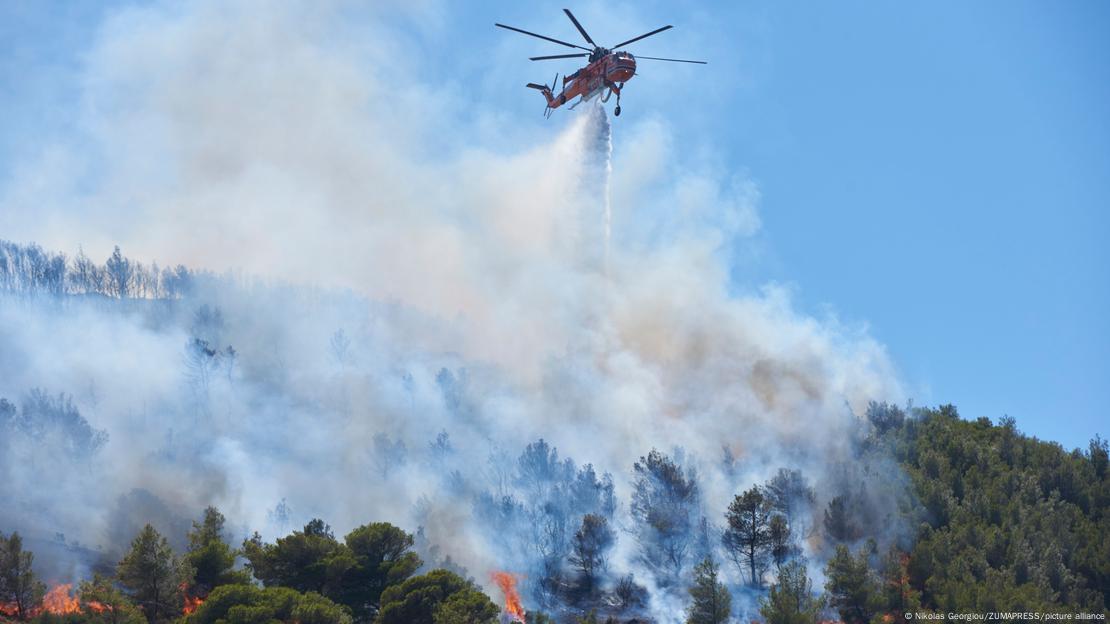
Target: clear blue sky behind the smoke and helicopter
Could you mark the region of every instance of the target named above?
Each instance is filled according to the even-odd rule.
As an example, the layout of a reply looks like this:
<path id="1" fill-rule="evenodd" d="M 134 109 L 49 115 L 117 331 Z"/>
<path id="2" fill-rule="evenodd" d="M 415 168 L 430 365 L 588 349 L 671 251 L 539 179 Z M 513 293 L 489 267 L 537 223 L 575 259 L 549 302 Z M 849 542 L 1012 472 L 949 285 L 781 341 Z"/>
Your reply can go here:
<path id="1" fill-rule="evenodd" d="M 418 80 L 463 130 L 517 149 L 567 123 L 523 89 L 573 62 L 564 3 L 427 3 L 393 18 Z M 1106 2 L 588 2 L 599 41 L 649 64 L 614 124 L 665 120 L 683 157 L 743 172 L 763 229 L 737 289 L 790 284 L 804 309 L 867 323 L 918 404 L 1009 414 L 1066 446 L 1110 403 L 1110 6 Z M 71 131 L 82 56 L 111 7 L 0 6 L 0 177 Z M 390 19 L 390 18 L 386 18 Z M 477 121 L 474 121 L 474 120 Z M 491 127 L 509 128 L 488 132 Z M 4 234 L 0 232 L 0 238 Z"/>

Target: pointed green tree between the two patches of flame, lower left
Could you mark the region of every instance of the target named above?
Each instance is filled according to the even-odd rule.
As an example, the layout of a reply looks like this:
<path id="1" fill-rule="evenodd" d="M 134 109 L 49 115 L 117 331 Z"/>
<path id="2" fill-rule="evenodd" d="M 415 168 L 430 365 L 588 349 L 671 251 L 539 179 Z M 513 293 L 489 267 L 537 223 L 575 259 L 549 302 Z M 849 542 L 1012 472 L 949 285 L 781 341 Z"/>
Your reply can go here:
<path id="1" fill-rule="evenodd" d="M 120 561 L 115 575 L 148 621 L 164 622 L 181 612 L 180 585 L 192 574 L 165 537 L 148 524 L 131 542 L 131 551 Z"/>

